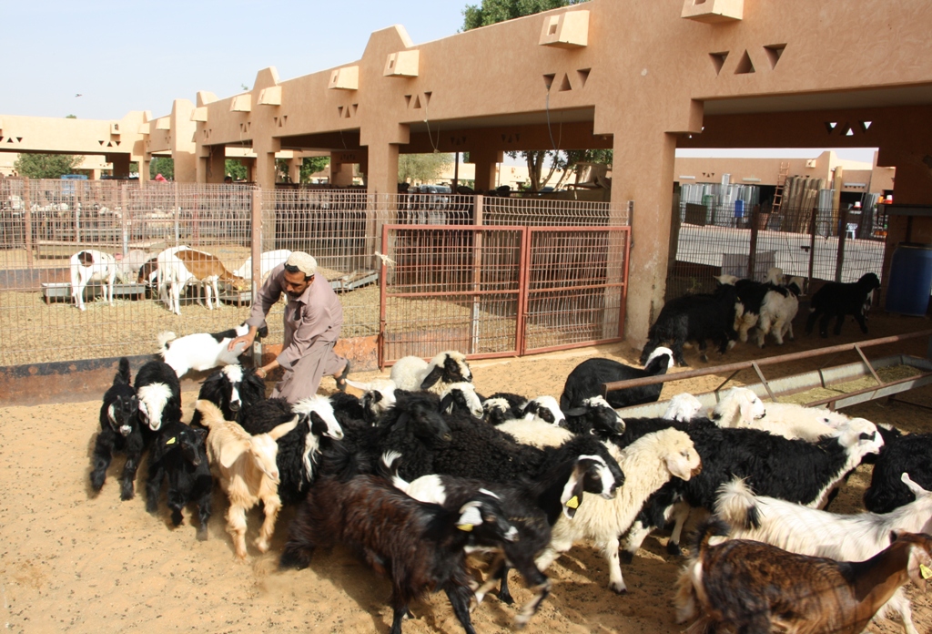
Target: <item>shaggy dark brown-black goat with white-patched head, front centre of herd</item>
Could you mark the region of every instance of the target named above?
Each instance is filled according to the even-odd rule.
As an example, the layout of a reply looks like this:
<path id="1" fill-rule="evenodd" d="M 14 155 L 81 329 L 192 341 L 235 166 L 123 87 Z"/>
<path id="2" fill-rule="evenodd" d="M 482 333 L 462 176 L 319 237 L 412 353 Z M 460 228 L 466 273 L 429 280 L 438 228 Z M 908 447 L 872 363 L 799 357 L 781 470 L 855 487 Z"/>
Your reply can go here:
<path id="1" fill-rule="evenodd" d="M 280 565 L 306 568 L 316 547 L 346 544 L 391 577 L 391 634 L 401 634 L 412 600 L 441 589 L 459 623 L 474 634 L 469 613 L 473 590 L 463 549 L 471 540 L 501 543 L 516 534 L 499 501 L 486 493 L 450 511 L 420 503 L 379 476 L 347 481 L 327 476 L 299 507 Z"/>

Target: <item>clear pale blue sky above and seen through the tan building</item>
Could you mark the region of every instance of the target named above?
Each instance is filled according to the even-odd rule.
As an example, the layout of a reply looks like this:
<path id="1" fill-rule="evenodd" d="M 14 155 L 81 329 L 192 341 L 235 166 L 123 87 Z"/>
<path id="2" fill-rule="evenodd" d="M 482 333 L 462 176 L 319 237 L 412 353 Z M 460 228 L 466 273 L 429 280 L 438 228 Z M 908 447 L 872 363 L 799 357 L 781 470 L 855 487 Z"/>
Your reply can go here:
<path id="1" fill-rule="evenodd" d="M 291 79 L 357 60 L 369 35 L 392 24 L 402 24 L 416 44 L 455 34 L 463 7 L 479 1 L 0 0 L 0 115 L 110 119 L 151 110 L 160 117 L 174 99 L 195 101 L 198 90 L 228 97 L 252 88 L 267 66 Z M 872 150 L 839 155 L 870 161 Z"/>

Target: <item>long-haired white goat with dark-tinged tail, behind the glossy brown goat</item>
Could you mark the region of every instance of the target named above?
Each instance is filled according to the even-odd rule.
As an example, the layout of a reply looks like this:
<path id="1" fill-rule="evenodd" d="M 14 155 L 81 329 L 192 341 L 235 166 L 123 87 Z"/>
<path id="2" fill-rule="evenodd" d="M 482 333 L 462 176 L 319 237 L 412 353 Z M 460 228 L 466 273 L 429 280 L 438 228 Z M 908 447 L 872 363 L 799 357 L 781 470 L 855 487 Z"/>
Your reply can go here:
<path id="1" fill-rule="evenodd" d="M 791 553 L 827 557 L 838 561 L 864 561 L 890 545 L 891 531 L 929 532 L 932 530 L 932 493 L 902 475 L 915 500 L 883 515 L 859 513 L 837 515 L 801 504 L 757 497 L 744 480 L 733 480 L 720 489 L 716 514 L 732 530 L 731 539 L 750 539 L 788 550 Z M 912 624 L 910 600 L 902 588 L 881 608 L 898 613 L 907 634 L 918 634 Z"/>

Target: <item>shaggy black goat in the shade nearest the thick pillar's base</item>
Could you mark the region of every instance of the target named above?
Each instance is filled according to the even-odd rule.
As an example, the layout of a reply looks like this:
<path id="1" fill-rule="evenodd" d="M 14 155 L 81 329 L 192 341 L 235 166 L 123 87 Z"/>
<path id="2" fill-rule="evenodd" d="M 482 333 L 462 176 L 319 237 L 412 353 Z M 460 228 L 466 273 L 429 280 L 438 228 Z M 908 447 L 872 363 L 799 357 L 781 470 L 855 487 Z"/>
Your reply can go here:
<path id="1" fill-rule="evenodd" d="M 737 338 L 734 332 L 737 298 L 732 284 L 721 284 L 710 295 L 688 295 L 666 302 L 657 321 L 651 325 L 640 362 L 646 365 L 651 353 L 665 342 L 670 342 L 673 360 L 678 365 L 687 365 L 683 358 L 683 344 L 687 341 L 698 343 L 701 358 L 706 363 L 706 339 L 718 342 L 719 351 L 724 354 Z"/>

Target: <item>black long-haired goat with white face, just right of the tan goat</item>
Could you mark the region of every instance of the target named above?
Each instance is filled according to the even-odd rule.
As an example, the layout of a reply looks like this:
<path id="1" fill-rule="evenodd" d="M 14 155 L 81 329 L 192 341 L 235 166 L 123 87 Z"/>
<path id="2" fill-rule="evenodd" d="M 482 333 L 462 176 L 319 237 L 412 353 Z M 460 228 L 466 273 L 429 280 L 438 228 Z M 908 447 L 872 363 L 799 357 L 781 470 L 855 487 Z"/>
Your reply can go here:
<path id="1" fill-rule="evenodd" d="M 276 442 L 275 463 L 279 468 L 279 498 L 282 504 L 298 503 L 308 494 L 317 474 L 314 467 L 321 452 L 321 439 L 343 438 L 334 408 L 325 396 L 315 394 L 289 404 L 283 398 L 260 401 L 242 411 L 240 425 L 249 434 L 267 434 L 281 424 L 298 418 L 295 429 Z"/>

